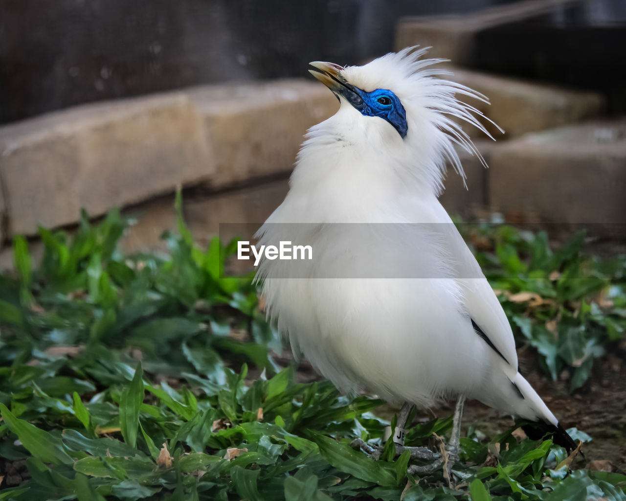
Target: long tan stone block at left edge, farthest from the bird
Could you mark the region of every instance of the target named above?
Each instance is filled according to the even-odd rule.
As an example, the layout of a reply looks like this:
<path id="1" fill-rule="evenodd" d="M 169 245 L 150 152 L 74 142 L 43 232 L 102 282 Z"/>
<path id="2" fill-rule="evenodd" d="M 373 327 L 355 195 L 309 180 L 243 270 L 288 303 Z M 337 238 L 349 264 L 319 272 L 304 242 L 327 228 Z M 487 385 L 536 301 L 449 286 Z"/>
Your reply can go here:
<path id="1" fill-rule="evenodd" d="M 210 175 L 182 93 L 80 106 L 0 129 L 11 234 L 100 215 Z"/>

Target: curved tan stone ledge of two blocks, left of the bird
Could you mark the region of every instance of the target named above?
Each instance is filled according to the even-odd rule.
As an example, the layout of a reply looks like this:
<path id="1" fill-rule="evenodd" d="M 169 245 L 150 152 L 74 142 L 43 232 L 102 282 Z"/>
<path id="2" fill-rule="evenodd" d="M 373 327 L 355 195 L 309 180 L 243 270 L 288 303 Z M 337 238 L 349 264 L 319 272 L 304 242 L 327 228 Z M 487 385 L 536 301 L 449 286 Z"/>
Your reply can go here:
<path id="1" fill-rule="evenodd" d="M 0 128 L 8 235 L 207 182 L 288 172 L 337 101 L 316 82 L 191 88 L 84 105 Z"/>

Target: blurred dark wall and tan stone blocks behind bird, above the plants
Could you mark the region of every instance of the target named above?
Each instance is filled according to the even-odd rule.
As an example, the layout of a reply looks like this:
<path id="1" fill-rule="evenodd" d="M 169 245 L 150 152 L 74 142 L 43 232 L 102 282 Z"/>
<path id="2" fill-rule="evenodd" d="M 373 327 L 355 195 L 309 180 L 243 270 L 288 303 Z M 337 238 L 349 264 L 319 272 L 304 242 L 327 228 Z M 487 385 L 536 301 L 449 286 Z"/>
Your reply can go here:
<path id="1" fill-rule="evenodd" d="M 450 59 L 506 131 L 471 132 L 492 168 L 464 158 L 469 190 L 449 177 L 449 212 L 622 236 L 623 0 L 6 0 L 0 237 L 116 206 L 141 216 L 129 249 L 158 246 L 178 185 L 199 239 L 261 222 L 302 134 L 336 110 L 308 62 L 414 44 Z"/>

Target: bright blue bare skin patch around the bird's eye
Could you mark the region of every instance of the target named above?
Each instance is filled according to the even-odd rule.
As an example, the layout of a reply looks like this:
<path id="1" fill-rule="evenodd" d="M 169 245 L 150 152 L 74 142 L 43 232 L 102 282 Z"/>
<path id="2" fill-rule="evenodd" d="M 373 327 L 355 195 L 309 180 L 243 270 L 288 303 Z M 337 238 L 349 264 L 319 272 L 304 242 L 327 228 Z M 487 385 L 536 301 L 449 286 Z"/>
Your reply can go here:
<path id="1" fill-rule="evenodd" d="M 404 106 L 392 91 L 376 89 L 371 92 L 363 91 L 354 85 L 345 82 L 333 91 L 341 94 L 346 100 L 361 111 L 365 116 L 379 116 L 388 121 L 398 131 L 401 138 L 406 137 L 409 127 L 406 123 L 406 111 Z"/>

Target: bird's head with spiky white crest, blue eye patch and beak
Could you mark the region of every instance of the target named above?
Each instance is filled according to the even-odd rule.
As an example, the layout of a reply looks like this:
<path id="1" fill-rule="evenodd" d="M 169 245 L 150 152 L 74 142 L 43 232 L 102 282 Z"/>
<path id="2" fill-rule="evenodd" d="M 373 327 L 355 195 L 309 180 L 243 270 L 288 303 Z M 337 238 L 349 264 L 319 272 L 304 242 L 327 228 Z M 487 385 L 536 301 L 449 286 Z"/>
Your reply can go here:
<path id="1" fill-rule="evenodd" d="M 485 118 L 483 114 L 456 96 L 488 101 L 466 86 L 438 78 L 450 72 L 431 68 L 442 60 L 422 59 L 424 53 L 426 49 L 407 48 L 364 66 L 310 63 L 310 73 L 341 103 L 337 114 L 312 132 L 337 133 L 358 147 L 387 151 L 439 190 L 446 163 L 464 177 L 454 143 L 482 160 L 458 119 L 489 135 L 476 118 Z"/>

